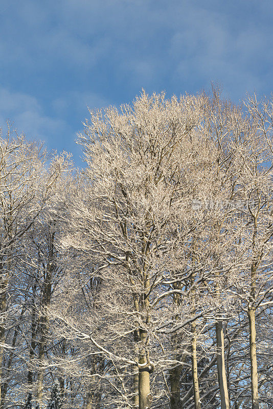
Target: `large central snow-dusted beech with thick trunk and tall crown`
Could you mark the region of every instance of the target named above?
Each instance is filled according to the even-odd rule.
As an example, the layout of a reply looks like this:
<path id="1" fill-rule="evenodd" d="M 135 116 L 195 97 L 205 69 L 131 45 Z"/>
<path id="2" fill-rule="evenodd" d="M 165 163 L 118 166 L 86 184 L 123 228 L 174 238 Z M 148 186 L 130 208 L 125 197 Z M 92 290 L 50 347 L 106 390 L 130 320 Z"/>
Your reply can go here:
<path id="1" fill-rule="evenodd" d="M 201 104 L 201 97 L 168 101 L 163 94 L 149 98 L 144 93 L 132 108 L 124 106 L 121 114 L 111 108 L 104 117 L 101 112 L 92 112 L 92 121 L 86 123 L 80 138 L 88 164 L 86 190 L 71 204 L 63 245 L 83 251 L 86 260 L 97 265 L 96 274 L 104 284 L 101 297 L 107 299 L 100 300 L 103 316 L 121 309 L 119 326 L 107 327 L 109 347 L 102 347 L 93 336 L 92 342 L 106 354 L 105 359 L 112 359 L 114 339 L 132 334 L 131 347 L 114 355 L 122 365 L 120 370 L 125 364 L 137 369 L 133 404 L 140 408 L 150 407 L 152 400 L 150 376 L 158 348 L 153 351 L 151 340 L 173 324 L 173 313 L 168 319 L 170 297 L 183 292 L 183 283 L 190 275 L 184 271 L 182 254 L 187 246 L 183 241 L 192 229 L 188 221 L 192 208 L 188 203 L 183 213 L 178 202 L 180 191 L 189 197 L 189 157 L 200 148 L 192 137 Z M 203 148 L 207 158 L 207 141 Z M 185 163 L 189 167 L 186 175 Z M 116 297 L 119 306 L 115 305 Z M 160 324 L 162 311 L 165 316 Z M 195 316 L 189 319 L 194 321 Z M 96 336 L 102 339 L 102 333 L 99 328 Z M 158 357 L 162 359 L 177 361 L 177 357 Z M 125 401 L 127 394 L 121 394 Z"/>

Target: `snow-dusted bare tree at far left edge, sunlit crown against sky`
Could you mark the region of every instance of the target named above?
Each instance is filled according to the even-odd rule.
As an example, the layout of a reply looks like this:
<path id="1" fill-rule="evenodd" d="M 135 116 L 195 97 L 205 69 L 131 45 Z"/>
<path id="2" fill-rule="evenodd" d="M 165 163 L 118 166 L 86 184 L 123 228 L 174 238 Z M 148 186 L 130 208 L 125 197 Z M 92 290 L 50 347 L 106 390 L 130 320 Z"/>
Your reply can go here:
<path id="1" fill-rule="evenodd" d="M 48 154 L 41 144 L 28 142 L 8 124 L 1 151 L 1 404 L 16 404 L 25 380 L 18 383 L 18 368 L 25 355 L 25 321 L 35 310 L 37 283 L 30 283 L 29 266 L 36 255 L 28 243 L 37 224 L 45 218 L 57 181 L 67 171 L 69 155 Z M 68 160 L 67 160 L 67 157 Z M 27 279 L 26 279 L 27 278 Z M 32 301 L 30 301 L 32 300 Z M 34 315 L 32 314 L 32 324 Z M 32 326 L 32 333 L 34 327 Z M 23 337 L 22 337 L 23 335 Z M 32 341 L 31 353 L 34 352 Z M 34 349 L 33 349 L 34 348 Z M 31 364 L 32 365 L 32 364 Z M 16 370 L 17 367 L 17 370 Z M 31 372 L 29 380 L 31 380 Z M 31 382 L 30 382 L 31 383 Z M 17 396 L 15 393 L 17 391 Z M 9 395 L 9 396 L 8 396 Z"/>

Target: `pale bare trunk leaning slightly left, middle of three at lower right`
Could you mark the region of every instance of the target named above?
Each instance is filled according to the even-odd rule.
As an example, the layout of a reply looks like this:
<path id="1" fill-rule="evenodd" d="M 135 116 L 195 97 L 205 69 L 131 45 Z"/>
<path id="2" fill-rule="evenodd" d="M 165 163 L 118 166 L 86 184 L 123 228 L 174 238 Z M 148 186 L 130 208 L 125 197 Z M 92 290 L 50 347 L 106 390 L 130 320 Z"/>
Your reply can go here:
<path id="1" fill-rule="evenodd" d="M 222 321 L 216 322 L 216 354 L 218 382 L 221 397 L 221 409 L 230 409 L 229 391 L 227 389 L 225 363 L 224 363 L 224 334 Z"/>

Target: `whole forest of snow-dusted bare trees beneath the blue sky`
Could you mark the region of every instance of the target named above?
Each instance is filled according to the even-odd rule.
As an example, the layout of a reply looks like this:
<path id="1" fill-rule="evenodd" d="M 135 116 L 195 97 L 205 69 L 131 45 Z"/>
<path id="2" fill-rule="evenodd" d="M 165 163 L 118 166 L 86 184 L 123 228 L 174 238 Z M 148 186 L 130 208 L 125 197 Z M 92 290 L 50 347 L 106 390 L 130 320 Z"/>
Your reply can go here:
<path id="1" fill-rule="evenodd" d="M 0 409 L 273 407 L 273 100 L 90 110 L 0 139 Z"/>

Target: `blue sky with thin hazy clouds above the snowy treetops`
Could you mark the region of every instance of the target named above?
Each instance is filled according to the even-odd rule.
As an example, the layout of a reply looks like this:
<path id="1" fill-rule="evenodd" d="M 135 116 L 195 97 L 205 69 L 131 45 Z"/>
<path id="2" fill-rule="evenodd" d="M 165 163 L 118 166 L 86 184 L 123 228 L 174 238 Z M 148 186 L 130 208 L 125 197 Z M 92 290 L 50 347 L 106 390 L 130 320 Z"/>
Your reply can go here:
<path id="1" fill-rule="evenodd" d="M 0 125 L 67 150 L 90 108 L 221 82 L 272 92 L 272 0 L 1 0 Z"/>

